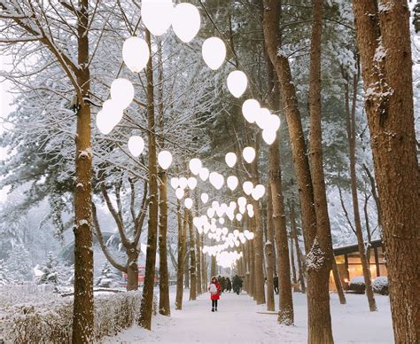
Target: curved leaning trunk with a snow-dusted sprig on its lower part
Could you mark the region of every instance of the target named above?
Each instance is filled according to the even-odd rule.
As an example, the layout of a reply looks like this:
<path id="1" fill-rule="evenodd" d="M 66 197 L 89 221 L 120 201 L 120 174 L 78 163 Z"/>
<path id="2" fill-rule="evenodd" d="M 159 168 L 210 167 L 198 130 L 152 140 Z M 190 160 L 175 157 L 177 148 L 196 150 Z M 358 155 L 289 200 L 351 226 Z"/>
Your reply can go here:
<path id="1" fill-rule="evenodd" d="M 299 197 L 302 211 L 302 223 L 305 235 L 307 258 L 311 264 L 307 269 L 307 314 L 308 342 L 332 343 L 329 265 L 331 254 L 325 243 L 325 235 L 316 238 L 316 216 L 314 193 L 307 160 L 306 143 L 300 120 L 298 99 L 292 82 L 289 61 L 284 55 L 277 53 L 280 43 L 278 25 L 280 7 L 276 0 L 264 0 L 263 29 L 268 56 L 275 66 L 276 74 L 283 95 L 284 113 L 291 137 L 292 156 L 299 186 Z M 321 240 L 321 245 L 320 241 Z M 280 254 L 280 253 L 279 253 Z"/>

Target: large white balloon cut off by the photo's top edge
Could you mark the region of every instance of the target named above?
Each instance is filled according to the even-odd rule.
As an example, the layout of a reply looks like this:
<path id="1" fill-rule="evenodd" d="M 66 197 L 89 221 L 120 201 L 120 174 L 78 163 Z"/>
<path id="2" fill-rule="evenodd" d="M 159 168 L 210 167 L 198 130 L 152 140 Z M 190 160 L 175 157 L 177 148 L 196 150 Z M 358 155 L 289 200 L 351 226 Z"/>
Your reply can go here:
<path id="1" fill-rule="evenodd" d="M 171 26 L 172 0 L 142 0 L 142 20 L 152 35 L 163 35 Z"/>

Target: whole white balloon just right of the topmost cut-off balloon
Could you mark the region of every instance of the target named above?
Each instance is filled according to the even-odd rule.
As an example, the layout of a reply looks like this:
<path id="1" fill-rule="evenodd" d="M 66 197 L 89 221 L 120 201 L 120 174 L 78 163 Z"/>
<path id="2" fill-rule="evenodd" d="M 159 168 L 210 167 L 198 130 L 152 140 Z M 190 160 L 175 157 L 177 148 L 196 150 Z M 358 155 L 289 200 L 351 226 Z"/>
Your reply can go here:
<path id="1" fill-rule="evenodd" d="M 196 6 L 188 3 L 177 4 L 172 19 L 175 35 L 184 43 L 189 43 L 198 34 L 201 18 Z"/>

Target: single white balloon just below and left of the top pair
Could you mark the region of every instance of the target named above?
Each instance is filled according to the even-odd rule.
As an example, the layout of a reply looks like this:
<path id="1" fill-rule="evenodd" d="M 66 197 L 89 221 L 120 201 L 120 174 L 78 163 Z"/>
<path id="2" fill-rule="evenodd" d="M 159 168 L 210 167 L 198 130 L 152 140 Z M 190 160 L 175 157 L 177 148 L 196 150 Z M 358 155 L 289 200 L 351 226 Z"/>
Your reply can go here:
<path id="1" fill-rule="evenodd" d="M 122 59 L 133 73 L 139 73 L 151 57 L 149 46 L 140 37 L 129 37 L 122 45 Z"/>

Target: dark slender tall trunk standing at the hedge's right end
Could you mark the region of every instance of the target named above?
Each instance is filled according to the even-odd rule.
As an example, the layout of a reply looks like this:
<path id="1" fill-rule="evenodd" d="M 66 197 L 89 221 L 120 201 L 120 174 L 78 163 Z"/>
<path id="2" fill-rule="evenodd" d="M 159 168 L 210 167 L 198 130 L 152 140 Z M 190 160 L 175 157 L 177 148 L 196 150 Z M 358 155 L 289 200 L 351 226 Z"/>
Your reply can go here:
<path id="1" fill-rule="evenodd" d="M 151 34 L 145 30 L 145 38 L 149 50 L 152 48 Z M 156 159 L 156 137 L 155 137 L 155 119 L 154 119 L 154 95 L 153 95 L 153 70 L 152 58 L 149 59 L 146 66 L 147 78 L 147 122 L 149 138 L 149 226 L 147 231 L 147 251 L 146 267 L 144 272 L 144 287 L 142 305 L 140 307 L 140 318 L 138 324 L 148 330 L 152 328 L 152 305 L 153 305 L 153 287 L 156 265 L 156 248 L 158 233 L 158 168 Z"/>

